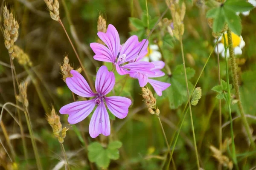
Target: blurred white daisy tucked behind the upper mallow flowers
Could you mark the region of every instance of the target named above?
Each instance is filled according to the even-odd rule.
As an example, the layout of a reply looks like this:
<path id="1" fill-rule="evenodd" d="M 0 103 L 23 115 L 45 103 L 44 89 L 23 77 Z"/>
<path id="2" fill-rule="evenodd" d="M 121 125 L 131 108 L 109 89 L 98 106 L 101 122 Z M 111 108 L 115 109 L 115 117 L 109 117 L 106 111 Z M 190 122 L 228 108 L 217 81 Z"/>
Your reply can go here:
<path id="1" fill-rule="evenodd" d="M 143 57 L 140 61 L 159 61 L 162 57 L 161 53 L 157 51 L 159 48 L 156 44 L 150 45 L 148 48 L 148 54 Z"/>

